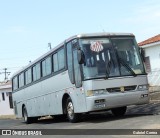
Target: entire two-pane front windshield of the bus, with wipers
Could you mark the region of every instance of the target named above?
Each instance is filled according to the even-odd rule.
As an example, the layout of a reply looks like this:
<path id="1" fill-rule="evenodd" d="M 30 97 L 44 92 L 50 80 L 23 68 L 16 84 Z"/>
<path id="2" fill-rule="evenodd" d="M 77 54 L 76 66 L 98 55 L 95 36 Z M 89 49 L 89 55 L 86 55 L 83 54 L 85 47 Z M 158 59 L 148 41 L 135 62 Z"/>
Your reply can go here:
<path id="1" fill-rule="evenodd" d="M 134 37 L 84 38 L 80 47 L 85 55 L 85 80 L 145 74 Z"/>

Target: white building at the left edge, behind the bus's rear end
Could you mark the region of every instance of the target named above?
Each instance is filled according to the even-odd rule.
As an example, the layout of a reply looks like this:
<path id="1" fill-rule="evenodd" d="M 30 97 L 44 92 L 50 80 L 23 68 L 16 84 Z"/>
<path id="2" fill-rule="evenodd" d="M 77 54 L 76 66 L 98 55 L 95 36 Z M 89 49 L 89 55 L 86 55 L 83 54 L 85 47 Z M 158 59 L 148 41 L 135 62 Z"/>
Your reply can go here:
<path id="1" fill-rule="evenodd" d="M 12 85 L 9 81 L 0 84 L 0 116 L 13 114 Z"/>

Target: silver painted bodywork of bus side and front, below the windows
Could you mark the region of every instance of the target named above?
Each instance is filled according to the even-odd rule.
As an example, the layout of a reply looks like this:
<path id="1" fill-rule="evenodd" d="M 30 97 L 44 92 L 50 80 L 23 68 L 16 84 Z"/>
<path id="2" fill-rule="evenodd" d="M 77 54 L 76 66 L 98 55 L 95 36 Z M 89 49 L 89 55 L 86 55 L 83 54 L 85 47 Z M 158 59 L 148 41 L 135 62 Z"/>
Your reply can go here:
<path id="1" fill-rule="evenodd" d="M 108 80 L 88 80 L 83 82 L 82 88 L 75 88 L 70 83 L 68 71 L 36 83 L 13 94 L 17 103 L 18 117 L 22 117 L 22 105 L 28 111 L 28 116 L 45 116 L 62 114 L 62 97 L 68 93 L 73 101 L 76 113 L 110 109 L 114 107 L 145 104 L 149 97 L 141 98 L 146 91 L 114 92 L 100 96 L 86 97 L 87 90 L 106 89 L 111 87 L 147 84 L 146 76 L 119 77 Z M 95 100 L 105 99 L 105 107 L 95 108 Z"/>

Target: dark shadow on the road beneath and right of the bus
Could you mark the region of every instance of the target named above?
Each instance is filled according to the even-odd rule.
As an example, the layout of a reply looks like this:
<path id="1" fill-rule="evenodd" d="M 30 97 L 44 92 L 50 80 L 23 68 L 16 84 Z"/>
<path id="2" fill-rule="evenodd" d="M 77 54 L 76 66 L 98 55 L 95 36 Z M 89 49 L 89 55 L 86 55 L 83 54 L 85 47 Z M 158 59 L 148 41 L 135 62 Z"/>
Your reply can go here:
<path id="1" fill-rule="evenodd" d="M 111 111 L 95 112 L 90 114 L 84 114 L 82 120 L 79 123 L 90 122 L 90 123 L 101 123 L 108 121 L 115 121 L 127 118 L 136 118 L 141 116 L 151 116 L 160 114 L 160 103 L 150 103 L 146 105 L 130 106 L 127 109 L 126 114 L 123 117 L 115 117 Z M 67 123 L 67 119 L 55 120 L 55 119 L 42 119 L 39 120 L 38 124 L 52 124 L 52 123 Z"/>

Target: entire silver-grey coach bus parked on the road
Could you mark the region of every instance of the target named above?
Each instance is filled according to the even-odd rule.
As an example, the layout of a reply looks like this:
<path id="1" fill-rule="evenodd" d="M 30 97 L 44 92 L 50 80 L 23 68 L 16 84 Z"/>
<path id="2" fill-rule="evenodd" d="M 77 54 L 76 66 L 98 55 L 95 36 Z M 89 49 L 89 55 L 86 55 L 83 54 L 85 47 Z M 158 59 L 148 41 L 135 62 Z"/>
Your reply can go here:
<path id="1" fill-rule="evenodd" d="M 17 118 L 80 121 L 83 114 L 149 102 L 143 52 L 131 33 L 79 34 L 66 39 L 12 76 Z"/>

